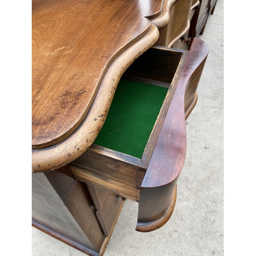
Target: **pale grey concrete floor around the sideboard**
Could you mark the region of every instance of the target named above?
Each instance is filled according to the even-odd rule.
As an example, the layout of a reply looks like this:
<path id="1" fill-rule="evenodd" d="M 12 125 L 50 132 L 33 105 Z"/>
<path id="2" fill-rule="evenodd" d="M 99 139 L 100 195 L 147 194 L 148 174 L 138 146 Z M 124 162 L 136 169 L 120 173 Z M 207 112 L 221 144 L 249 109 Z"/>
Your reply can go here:
<path id="1" fill-rule="evenodd" d="M 138 204 L 126 200 L 104 256 L 223 255 L 223 1 L 199 36 L 210 52 L 186 121 L 187 155 L 173 216 L 156 231 L 137 232 Z M 32 228 L 32 255 L 85 254 Z"/>

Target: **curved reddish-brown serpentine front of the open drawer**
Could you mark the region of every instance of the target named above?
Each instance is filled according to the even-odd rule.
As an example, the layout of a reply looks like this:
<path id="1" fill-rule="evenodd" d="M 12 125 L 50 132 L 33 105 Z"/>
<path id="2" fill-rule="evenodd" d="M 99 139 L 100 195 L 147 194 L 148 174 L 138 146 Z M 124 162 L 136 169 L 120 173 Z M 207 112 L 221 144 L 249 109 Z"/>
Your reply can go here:
<path id="1" fill-rule="evenodd" d="M 208 52 L 207 44 L 194 38 L 140 188 L 138 223 L 144 223 L 144 232 L 146 223 L 165 219 L 172 201 L 186 155 L 185 97 L 195 97 Z"/>

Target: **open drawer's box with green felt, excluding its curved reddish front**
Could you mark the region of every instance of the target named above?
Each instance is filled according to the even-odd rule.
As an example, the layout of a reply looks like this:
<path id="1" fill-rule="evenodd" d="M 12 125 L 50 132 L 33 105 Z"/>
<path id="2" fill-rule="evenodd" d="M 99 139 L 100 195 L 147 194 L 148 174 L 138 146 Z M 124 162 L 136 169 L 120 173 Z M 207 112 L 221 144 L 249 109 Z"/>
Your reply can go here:
<path id="1" fill-rule="evenodd" d="M 184 50 L 152 47 L 124 72 L 94 144 L 69 164 L 76 179 L 139 201 L 186 56 Z"/>

